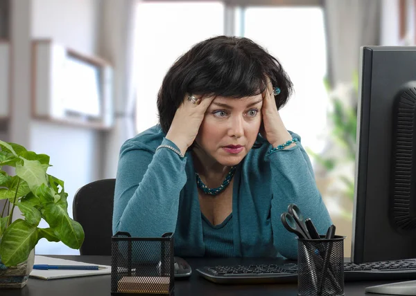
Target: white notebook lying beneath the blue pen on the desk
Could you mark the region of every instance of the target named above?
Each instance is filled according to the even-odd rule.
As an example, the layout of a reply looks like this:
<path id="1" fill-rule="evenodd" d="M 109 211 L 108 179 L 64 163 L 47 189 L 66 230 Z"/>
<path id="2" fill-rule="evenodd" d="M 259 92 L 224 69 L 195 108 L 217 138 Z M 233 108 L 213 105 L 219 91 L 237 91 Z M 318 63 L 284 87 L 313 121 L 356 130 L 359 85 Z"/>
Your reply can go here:
<path id="1" fill-rule="evenodd" d="M 51 258 L 46 256 L 35 255 L 35 264 L 49 264 L 49 265 L 98 265 L 92 263 L 78 262 L 66 259 Z M 66 277 L 86 277 L 89 275 L 110 275 L 111 266 L 101 265 L 103 269 L 99 270 L 37 270 L 31 272 L 30 277 L 37 279 L 64 279 Z"/>

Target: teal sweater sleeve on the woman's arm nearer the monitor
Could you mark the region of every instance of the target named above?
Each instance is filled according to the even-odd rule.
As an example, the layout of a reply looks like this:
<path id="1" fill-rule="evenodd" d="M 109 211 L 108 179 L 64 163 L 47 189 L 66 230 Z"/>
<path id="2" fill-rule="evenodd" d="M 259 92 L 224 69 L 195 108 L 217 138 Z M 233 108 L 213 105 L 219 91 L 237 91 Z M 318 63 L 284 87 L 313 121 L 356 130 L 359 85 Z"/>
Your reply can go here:
<path id="1" fill-rule="evenodd" d="M 292 134 L 300 140 L 295 133 Z M 272 173 L 271 219 L 274 244 L 279 253 L 289 259 L 297 259 L 296 234 L 288 232 L 280 216 L 288 205 L 295 203 L 304 216 L 310 218 L 319 234 L 325 234 L 331 225 L 327 207 L 322 201 L 315 182 L 311 160 L 301 142 L 295 147 L 273 151 L 266 158 Z"/>

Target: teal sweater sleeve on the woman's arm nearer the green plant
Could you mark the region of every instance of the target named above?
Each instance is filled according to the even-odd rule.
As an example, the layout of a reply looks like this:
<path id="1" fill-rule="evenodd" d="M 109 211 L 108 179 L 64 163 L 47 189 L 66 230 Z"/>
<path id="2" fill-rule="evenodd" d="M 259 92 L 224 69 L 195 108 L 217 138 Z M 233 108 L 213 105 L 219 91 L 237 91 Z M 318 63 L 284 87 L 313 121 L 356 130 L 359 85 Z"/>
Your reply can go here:
<path id="1" fill-rule="evenodd" d="M 162 145 L 177 149 L 166 138 Z M 116 175 L 113 233 L 160 237 L 175 232 L 180 191 L 187 182 L 186 162 L 168 148 L 155 152 L 142 143 L 125 142 Z"/>

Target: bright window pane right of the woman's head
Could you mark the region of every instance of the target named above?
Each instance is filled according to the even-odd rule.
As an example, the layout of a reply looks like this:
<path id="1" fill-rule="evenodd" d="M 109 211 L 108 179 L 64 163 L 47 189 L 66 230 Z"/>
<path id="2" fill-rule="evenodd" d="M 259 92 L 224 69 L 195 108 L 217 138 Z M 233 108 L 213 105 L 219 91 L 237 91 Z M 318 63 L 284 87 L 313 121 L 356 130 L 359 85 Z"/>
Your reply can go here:
<path id="1" fill-rule="evenodd" d="M 301 136 L 304 147 L 321 151 L 324 139 L 319 134 L 327 124 L 328 107 L 322 8 L 246 8 L 242 35 L 268 49 L 281 62 L 295 89 L 281 109 L 281 118 L 286 129 Z"/>

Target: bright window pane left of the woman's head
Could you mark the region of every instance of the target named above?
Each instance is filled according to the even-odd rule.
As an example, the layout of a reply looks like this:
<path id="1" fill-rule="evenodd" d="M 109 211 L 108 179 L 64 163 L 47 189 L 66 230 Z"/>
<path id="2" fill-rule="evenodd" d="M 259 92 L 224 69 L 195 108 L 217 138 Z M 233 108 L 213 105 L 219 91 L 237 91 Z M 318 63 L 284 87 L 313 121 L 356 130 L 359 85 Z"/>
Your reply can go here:
<path id="1" fill-rule="evenodd" d="M 203 13 L 203 14 L 202 14 Z M 202 39 L 222 35 L 224 6 L 207 3 L 137 5 L 137 131 L 158 122 L 157 92 L 175 62 Z"/>

